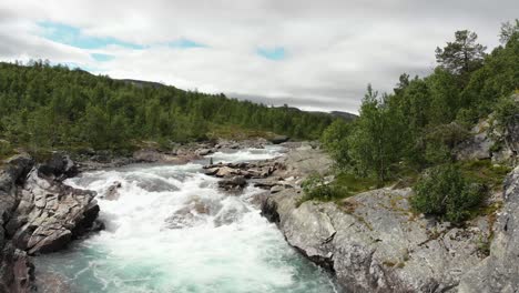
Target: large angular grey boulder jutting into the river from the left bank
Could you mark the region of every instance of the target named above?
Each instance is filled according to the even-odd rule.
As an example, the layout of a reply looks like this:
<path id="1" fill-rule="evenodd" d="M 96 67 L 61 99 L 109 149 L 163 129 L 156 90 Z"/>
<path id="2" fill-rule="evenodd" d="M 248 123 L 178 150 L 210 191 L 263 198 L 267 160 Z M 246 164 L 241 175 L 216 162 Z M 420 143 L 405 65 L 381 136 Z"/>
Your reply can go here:
<path id="1" fill-rule="evenodd" d="M 61 250 L 89 231 L 98 216 L 93 191 L 78 190 L 32 171 L 20 191 L 20 204 L 8 225 L 13 243 L 29 254 Z"/>

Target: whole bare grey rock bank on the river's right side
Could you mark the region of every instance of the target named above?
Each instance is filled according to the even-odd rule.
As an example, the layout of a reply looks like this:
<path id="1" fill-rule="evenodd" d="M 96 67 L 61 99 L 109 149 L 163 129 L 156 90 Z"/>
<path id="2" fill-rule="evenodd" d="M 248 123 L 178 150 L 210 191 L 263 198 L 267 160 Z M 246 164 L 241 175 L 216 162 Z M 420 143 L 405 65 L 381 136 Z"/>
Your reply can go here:
<path id="1" fill-rule="evenodd" d="M 262 213 L 286 241 L 333 273 L 347 292 L 517 291 L 519 169 L 508 175 L 503 193 L 492 195 L 502 209 L 459 226 L 416 214 L 408 202 L 411 189 L 398 185 L 338 202 L 302 203 L 302 180 L 313 172 L 326 175 L 330 163 L 311 146 L 292 149 L 260 164 L 272 172 L 248 184 L 267 190 L 258 200 Z M 236 175 L 254 173 L 257 165 L 214 168 L 211 173 L 240 182 Z"/>

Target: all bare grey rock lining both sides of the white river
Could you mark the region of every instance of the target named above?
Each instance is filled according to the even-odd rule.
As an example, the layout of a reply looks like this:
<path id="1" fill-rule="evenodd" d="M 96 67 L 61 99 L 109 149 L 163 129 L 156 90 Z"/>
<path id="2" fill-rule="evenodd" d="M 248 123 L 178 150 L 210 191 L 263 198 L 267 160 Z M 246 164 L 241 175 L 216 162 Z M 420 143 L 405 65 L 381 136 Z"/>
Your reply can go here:
<path id="1" fill-rule="evenodd" d="M 264 148 L 265 143 L 197 144 L 171 153 L 147 149 L 119 159 L 94 154 L 79 158 L 78 164 L 59 152 L 44 163 L 35 163 L 26 154 L 11 158 L 0 171 L 0 292 L 35 291 L 32 255 L 63 250 L 72 240 L 103 228 L 96 221 L 100 208 L 95 192 L 71 188 L 64 180 L 81 171 L 135 162 L 182 164 L 193 160 L 205 162 L 203 173 L 217 178 L 217 188 L 232 196 L 240 196 L 250 188 L 263 189 L 247 201 L 277 224 L 288 244 L 328 270 L 342 286 L 336 290 L 518 291 L 519 168 L 507 178 L 503 194 L 495 196 L 502 200 L 500 211 L 476 218 L 465 226 L 454 226 L 414 214 L 408 203 L 413 191 L 397 186 L 372 190 L 340 202 L 301 203 L 302 181 L 314 172 L 327 174 L 330 159 L 313 144 L 285 143 L 287 152 L 276 159 L 232 160 L 233 152 Z M 226 155 L 226 161 L 220 162 L 218 155 Z M 103 201 L 119 199 L 121 182 L 110 184 L 98 195 Z M 164 191 L 167 192 L 159 192 Z M 187 212 L 181 214 L 180 209 L 172 215 L 169 223 L 174 223 L 173 229 L 184 226 L 184 215 L 208 213 L 206 205 L 196 202 L 183 209 Z M 45 277 L 51 286 L 61 283 L 59 277 Z"/>

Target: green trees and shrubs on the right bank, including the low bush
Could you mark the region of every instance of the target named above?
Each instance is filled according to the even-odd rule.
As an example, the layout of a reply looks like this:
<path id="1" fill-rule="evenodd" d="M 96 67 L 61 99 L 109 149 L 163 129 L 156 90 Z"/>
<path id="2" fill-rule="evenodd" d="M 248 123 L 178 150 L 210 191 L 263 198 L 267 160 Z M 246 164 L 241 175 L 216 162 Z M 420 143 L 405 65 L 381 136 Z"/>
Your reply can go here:
<path id="1" fill-rule="evenodd" d="M 304 200 L 337 200 L 399 182 L 415 185 L 418 212 L 459 223 L 480 209 L 511 169 L 456 154 L 481 120 L 491 120 L 498 133 L 519 121 L 519 20 L 505 23 L 499 36 L 501 46 L 487 54 L 475 32 L 457 31 L 436 49 L 438 65 L 428 77 L 404 73 L 393 93 L 381 95 L 368 85 L 359 118 L 334 121 L 322 137 L 336 180 L 309 178 Z M 505 144 L 496 141 L 489 151 Z"/>

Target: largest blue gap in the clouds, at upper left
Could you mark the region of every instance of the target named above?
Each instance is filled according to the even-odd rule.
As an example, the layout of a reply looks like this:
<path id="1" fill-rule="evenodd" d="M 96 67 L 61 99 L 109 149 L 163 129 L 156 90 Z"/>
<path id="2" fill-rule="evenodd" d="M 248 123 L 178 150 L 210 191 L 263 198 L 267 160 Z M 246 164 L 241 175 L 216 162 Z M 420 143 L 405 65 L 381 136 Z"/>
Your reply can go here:
<path id="1" fill-rule="evenodd" d="M 124 42 L 111 37 L 100 38 L 85 36 L 81 32 L 81 29 L 63 23 L 44 21 L 38 24 L 44 29 L 43 38 L 80 49 L 100 49 L 111 44 L 134 50 L 144 49 L 141 44 Z"/>

